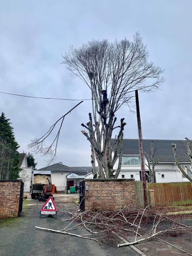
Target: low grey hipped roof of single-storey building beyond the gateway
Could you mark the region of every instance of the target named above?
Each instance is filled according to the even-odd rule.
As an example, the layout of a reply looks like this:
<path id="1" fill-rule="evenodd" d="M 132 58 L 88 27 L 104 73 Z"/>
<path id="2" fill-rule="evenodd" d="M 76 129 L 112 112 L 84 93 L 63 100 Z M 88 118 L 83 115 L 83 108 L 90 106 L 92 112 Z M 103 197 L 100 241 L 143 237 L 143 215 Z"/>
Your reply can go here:
<path id="1" fill-rule="evenodd" d="M 46 166 L 44 168 L 38 169 L 38 171 L 51 171 L 51 172 L 74 172 L 74 173 L 85 173 L 87 174 L 88 172 L 92 172 L 92 167 L 91 166 L 87 166 L 87 167 L 78 167 L 78 166 L 74 166 L 74 167 L 70 167 L 70 166 L 66 166 L 64 164 L 61 163 L 55 163 L 52 164 L 51 166 Z M 80 175 L 83 175 L 80 174 Z"/>

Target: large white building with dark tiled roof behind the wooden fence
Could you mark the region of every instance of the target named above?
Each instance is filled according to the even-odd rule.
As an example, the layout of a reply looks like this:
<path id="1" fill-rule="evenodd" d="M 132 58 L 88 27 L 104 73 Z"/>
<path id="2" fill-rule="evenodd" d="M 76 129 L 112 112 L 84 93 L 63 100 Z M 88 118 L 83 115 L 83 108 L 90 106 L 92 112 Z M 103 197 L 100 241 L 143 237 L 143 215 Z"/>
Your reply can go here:
<path id="1" fill-rule="evenodd" d="M 154 155 L 155 160 L 159 160 L 159 163 L 155 166 L 156 182 L 189 181 L 183 176 L 175 164 L 175 157 L 172 151 L 172 143 L 175 143 L 177 145 L 177 158 L 179 163 L 185 170 L 185 166 L 190 167 L 189 157 L 186 154 L 186 146 L 183 140 L 143 140 L 144 152 L 150 152 L 151 141 L 153 141 L 153 145 L 156 147 Z M 139 141 L 137 139 L 124 139 L 122 155 L 122 167 L 119 178 L 141 180 Z M 118 161 L 119 157 L 116 160 L 114 171 L 117 169 Z M 148 171 L 146 163 L 147 161 L 145 159 L 145 170 Z M 190 172 L 187 172 L 187 174 L 192 177 Z"/>

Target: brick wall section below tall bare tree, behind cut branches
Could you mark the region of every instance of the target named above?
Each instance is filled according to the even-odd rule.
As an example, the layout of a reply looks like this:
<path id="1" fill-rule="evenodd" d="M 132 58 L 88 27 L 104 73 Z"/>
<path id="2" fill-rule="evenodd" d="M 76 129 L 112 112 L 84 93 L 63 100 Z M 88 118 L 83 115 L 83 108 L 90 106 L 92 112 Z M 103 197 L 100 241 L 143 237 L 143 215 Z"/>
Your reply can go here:
<path id="1" fill-rule="evenodd" d="M 85 209 L 119 209 L 135 200 L 134 179 L 85 179 Z"/>

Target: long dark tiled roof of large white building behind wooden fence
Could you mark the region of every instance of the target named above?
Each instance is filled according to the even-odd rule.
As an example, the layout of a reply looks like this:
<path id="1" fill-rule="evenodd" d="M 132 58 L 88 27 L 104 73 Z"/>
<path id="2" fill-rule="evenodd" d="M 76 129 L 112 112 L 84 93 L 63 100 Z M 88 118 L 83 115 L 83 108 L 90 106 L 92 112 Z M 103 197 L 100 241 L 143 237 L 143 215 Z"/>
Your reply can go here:
<path id="1" fill-rule="evenodd" d="M 112 139 L 114 141 L 114 139 Z M 172 150 L 172 143 L 177 146 L 177 158 L 180 163 L 188 163 L 189 157 L 186 154 L 186 146 L 183 140 L 143 140 L 143 150 L 146 153 L 150 152 L 151 141 L 156 147 L 154 160 L 159 159 L 160 162 L 175 163 L 175 157 Z M 192 146 L 192 142 L 191 142 Z M 119 154 L 119 147 L 117 154 Z M 139 140 L 138 139 L 123 139 L 123 155 L 139 155 Z"/>

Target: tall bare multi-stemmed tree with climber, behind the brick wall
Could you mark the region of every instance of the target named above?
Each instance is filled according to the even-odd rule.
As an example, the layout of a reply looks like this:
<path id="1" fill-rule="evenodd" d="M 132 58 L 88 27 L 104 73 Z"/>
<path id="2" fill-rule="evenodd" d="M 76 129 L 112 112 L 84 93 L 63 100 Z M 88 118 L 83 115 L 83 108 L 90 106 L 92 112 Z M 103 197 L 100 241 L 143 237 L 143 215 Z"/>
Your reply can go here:
<path id="1" fill-rule="evenodd" d="M 117 148 L 122 151 L 126 123 L 122 118 L 120 125 L 115 125 L 116 112 L 124 104 L 131 108 L 134 90 L 153 91 L 163 82 L 163 70 L 149 62 L 148 56 L 138 33 L 132 42 L 126 38 L 113 43 L 92 40 L 78 49 L 72 46 L 63 56 L 63 63 L 72 75 L 81 79 L 91 92 L 92 113 L 89 113 L 89 122 L 81 124 L 86 129 L 81 132 L 91 144 L 93 170 L 96 158 L 99 177 L 112 176 Z M 112 143 L 116 129 L 119 131 Z M 120 169 L 121 157 L 115 177 Z"/>

